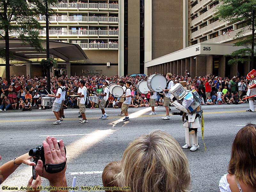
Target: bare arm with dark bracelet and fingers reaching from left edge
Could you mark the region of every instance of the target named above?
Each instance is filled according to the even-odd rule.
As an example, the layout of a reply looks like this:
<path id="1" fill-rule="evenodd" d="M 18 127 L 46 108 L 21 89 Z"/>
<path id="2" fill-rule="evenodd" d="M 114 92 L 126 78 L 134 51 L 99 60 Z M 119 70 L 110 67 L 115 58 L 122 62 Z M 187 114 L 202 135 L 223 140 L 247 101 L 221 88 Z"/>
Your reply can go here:
<path id="1" fill-rule="evenodd" d="M 28 153 L 25 153 L 24 155 L 21 155 L 19 157 L 15 157 L 11 161 L 3 164 L 0 166 L 0 184 L 4 182 L 22 163 L 27 165 L 36 165 L 34 162 L 30 161 L 31 157 L 28 156 Z M 1 160 L 1 156 L 0 156 Z M 32 187 L 34 192 L 37 192 L 36 188 L 41 185 L 41 177 L 38 176 L 36 180 L 32 183 L 33 179 L 32 177 L 28 181 L 27 187 Z M 32 190 L 31 190 L 32 191 Z M 30 190 L 27 190 L 27 192 L 30 192 Z"/>

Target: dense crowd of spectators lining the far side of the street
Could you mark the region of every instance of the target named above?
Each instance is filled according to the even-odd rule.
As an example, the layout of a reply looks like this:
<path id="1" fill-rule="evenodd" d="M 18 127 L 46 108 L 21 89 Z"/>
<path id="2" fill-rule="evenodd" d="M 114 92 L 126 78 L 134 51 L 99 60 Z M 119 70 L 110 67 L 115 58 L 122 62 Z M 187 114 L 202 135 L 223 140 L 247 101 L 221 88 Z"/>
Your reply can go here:
<path id="1" fill-rule="evenodd" d="M 150 76 L 151 74 L 149 74 Z M 165 75 L 164 75 L 165 76 Z M 64 107 L 77 107 L 77 100 L 75 97 L 69 97 L 73 93 L 76 93 L 79 88 L 79 81 L 84 80 L 86 82 L 85 86 L 87 87 L 90 96 L 96 95 L 103 91 L 102 84 L 105 80 L 108 80 L 110 84 L 119 84 L 119 81 L 123 80 L 124 82 L 129 80 L 132 82 L 131 94 L 132 100 L 129 107 L 149 107 L 149 98 L 150 93 L 140 94 L 136 85 L 142 80 L 147 80 L 148 76 L 62 76 L 66 81 L 66 87 L 68 90 L 67 98 L 64 103 Z M 51 78 L 51 90 L 53 93 L 57 91 L 57 80 L 58 77 Z M 206 76 L 199 76 L 192 78 L 189 73 L 181 75 L 173 75 L 172 80 L 174 84 L 186 81 L 187 89 L 195 89 L 199 95 L 202 97 L 202 104 L 214 105 L 214 104 L 240 104 L 243 102 L 248 102 L 247 100 L 242 100 L 247 97 L 247 86 L 249 81 L 244 76 L 232 76 L 230 77 L 220 77 L 208 74 Z M 7 109 L 22 109 L 22 110 L 31 110 L 32 107 L 37 107 L 39 109 L 45 109 L 41 106 L 42 95 L 47 95 L 47 78 L 46 77 L 30 77 L 30 76 L 11 76 L 11 83 L 7 82 L 5 79 L 2 80 L 0 77 L 0 111 Z M 69 94 L 71 92 L 71 94 Z M 163 105 L 164 93 L 158 92 L 156 98 L 156 106 Z M 119 98 L 115 98 L 112 95 L 109 95 L 106 107 L 119 108 Z M 97 105 L 91 102 L 89 104 L 90 108 L 95 108 Z"/>

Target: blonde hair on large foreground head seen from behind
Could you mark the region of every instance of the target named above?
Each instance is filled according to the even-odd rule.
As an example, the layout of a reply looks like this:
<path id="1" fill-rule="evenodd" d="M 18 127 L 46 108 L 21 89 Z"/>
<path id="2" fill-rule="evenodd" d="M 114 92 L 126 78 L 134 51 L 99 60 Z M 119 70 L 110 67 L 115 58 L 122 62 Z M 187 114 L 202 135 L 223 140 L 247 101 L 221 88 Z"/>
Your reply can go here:
<path id="1" fill-rule="evenodd" d="M 129 144 L 118 177 L 132 192 L 187 192 L 190 184 L 188 159 L 179 143 L 158 130 Z"/>

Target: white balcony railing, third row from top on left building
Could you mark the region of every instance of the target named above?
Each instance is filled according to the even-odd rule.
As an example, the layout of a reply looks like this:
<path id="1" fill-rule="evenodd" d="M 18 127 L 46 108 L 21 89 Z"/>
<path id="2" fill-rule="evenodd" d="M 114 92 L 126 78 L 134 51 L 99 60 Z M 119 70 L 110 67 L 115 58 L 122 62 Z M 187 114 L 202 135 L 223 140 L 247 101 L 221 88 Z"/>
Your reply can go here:
<path id="1" fill-rule="evenodd" d="M 45 30 L 38 30 L 39 36 L 46 36 Z M 10 31 L 10 36 L 19 36 L 22 33 L 22 30 L 20 31 Z M 4 35 L 4 30 L 0 30 L 0 34 Z M 64 36 L 116 36 L 118 37 L 118 30 L 72 30 L 72 29 L 50 29 L 49 30 L 49 36 L 50 37 L 64 37 Z"/>

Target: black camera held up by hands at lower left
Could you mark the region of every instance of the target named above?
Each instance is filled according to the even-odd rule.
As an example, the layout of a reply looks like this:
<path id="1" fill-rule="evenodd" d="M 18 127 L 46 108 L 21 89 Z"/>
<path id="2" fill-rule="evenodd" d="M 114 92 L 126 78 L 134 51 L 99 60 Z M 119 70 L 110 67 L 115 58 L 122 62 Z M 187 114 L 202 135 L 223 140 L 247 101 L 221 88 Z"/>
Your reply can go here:
<path id="1" fill-rule="evenodd" d="M 59 141 L 58 141 L 58 145 L 60 147 Z M 65 148 L 65 154 L 66 154 L 66 148 Z M 42 145 L 39 145 L 36 148 L 30 149 L 29 152 L 28 152 L 28 155 L 33 157 L 33 162 L 36 163 L 36 165 L 37 165 L 38 160 L 42 160 L 43 161 L 43 165 L 45 164 L 44 147 Z M 36 166 L 33 165 L 32 166 L 32 176 L 33 176 L 34 180 L 37 177 L 37 173 L 36 173 L 36 169 L 35 168 L 36 168 Z"/>

